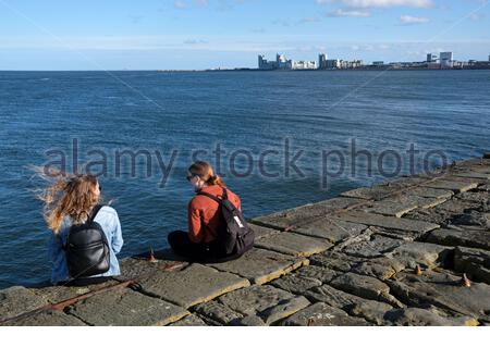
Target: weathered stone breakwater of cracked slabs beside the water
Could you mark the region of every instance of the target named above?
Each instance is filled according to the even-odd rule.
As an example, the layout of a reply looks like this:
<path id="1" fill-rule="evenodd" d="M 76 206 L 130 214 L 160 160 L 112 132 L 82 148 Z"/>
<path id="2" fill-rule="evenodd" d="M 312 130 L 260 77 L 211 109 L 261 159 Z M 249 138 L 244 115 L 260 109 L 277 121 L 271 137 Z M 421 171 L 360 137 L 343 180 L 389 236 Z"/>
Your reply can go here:
<path id="1" fill-rule="evenodd" d="M 439 174 L 253 219 L 232 262 L 163 250 L 101 285 L 1 290 L 1 325 L 489 325 L 490 156 Z"/>

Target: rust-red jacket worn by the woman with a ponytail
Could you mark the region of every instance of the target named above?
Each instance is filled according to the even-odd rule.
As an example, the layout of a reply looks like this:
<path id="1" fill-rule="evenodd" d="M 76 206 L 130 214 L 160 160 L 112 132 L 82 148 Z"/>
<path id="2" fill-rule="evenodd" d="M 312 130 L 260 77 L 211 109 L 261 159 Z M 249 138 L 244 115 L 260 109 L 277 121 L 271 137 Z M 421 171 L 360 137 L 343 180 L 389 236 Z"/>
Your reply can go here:
<path id="1" fill-rule="evenodd" d="M 203 187 L 203 192 L 222 198 L 223 188 L 219 185 Z M 228 199 L 241 209 L 240 197 L 226 189 Z M 210 243 L 218 236 L 220 226 L 224 223 L 218 202 L 209 197 L 196 195 L 188 202 L 188 238 L 194 243 Z"/>

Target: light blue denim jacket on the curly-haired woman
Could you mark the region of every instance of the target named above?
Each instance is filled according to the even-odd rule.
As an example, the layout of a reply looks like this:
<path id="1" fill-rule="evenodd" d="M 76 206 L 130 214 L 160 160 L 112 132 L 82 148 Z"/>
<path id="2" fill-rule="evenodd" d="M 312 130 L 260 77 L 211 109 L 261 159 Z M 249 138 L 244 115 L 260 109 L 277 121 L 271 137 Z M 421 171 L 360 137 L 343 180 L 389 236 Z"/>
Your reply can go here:
<path id="1" fill-rule="evenodd" d="M 94 276 L 111 276 L 119 275 L 121 271 L 119 269 L 119 262 L 115 257 L 121 251 L 123 246 L 123 238 L 121 232 L 121 223 L 119 222 L 118 213 L 111 207 L 103 206 L 96 217 L 95 222 L 99 223 L 106 234 L 109 243 L 110 253 L 110 268 L 103 274 L 97 274 Z M 70 216 L 64 216 L 61 223 L 61 229 L 58 235 L 51 233 L 49 238 L 48 252 L 49 259 L 52 263 L 51 283 L 57 284 L 59 282 L 66 282 L 70 279 L 68 270 L 66 256 L 62 246 L 66 243 L 68 233 L 73 222 Z"/>

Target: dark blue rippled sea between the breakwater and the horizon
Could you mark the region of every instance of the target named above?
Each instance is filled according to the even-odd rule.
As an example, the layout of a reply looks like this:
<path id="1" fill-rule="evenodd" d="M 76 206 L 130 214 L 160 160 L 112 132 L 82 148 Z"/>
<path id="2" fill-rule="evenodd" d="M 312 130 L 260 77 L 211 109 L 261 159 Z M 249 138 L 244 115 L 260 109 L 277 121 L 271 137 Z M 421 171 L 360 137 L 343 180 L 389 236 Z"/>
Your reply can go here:
<path id="1" fill-rule="evenodd" d="M 107 156 L 101 185 L 115 199 L 124 257 L 166 247 L 168 232 L 185 228 L 193 192 L 184 176 L 195 150 L 215 163 L 211 151 L 221 147 L 220 172 L 252 217 L 382 181 L 376 163 L 368 175 L 362 156 L 352 175 L 351 139 L 375 156 L 399 151 L 401 173 L 409 172 L 409 144 L 420 150 L 417 170 L 431 150 L 449 161 L 481 156 L 489 96 L 490 71 L 0 72 L 0 288 L 49 277 L 49 232 L 32 191 L 40 182 L 29 166 L 60 160 L 50 150 L 64 151 L 69 167 L 73 141 L 79 163 L 102 159 L 90 151 Z M 301 173 L 284 164 L 286 142 Z M 321 151 L 335 149 L 345 152 L 345 172 L 326 189 Z M 151 175 L 143 156 L 136 175 L 124 160 L 118 174 L 118 150 L 148 151 Z M 176 151 L 164 187 L 156 151 L 167 165 Z M 385 156 L 384 172 L 396 169 L 393 159 Z"/>

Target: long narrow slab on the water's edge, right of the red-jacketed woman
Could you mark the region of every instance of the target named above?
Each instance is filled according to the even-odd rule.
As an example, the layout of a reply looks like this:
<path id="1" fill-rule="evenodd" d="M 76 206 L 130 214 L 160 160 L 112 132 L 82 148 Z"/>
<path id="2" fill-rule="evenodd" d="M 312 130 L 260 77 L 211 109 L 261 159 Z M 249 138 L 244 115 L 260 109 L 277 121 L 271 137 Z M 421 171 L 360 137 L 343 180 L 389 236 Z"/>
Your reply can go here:
<path id="1" fill-rule="evenodd" d="M 252 219 L 253 223 L 271 226 L 274 228 L 297 227 L 304 223 L 309 223 L 314 219 L 323 217 L 341 209 L 362 203 L 362 199 L 354 198 L 332 198 L 314 204 L 306 204 L 285 211 L 280 211 L 270 215 Z"/>

